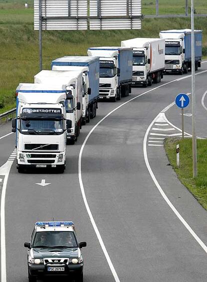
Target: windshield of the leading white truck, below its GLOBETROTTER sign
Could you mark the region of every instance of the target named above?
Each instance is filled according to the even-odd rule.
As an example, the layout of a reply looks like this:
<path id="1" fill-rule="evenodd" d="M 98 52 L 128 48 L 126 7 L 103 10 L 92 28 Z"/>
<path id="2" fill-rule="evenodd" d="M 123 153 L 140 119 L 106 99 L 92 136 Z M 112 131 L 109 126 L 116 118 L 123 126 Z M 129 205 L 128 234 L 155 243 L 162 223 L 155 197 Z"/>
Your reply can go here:
<path id="1" fill-rule="evenodd" d="M 20 133 L 31 135 L 59 135 L 63 133 L 63 120 L 21 119 Z"/>

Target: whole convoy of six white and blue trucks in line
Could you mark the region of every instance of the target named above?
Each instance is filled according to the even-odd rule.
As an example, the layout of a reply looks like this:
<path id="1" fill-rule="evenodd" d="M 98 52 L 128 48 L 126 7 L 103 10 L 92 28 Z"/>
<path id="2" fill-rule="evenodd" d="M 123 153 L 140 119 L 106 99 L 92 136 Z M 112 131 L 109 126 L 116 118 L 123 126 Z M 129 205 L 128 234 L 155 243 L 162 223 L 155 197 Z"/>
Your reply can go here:
<path id="1" fill-rule="evenodd" d="M 159 38 L 121 41 L 121 47 L 88 48 L 88 56 L 53 60 L 51 70 L 16 89 L 16 167 L 65 169 L 66 144 L 96 116 L 98 99 L 120 100 L 132 85 L 150 86 L 165 73 L 191 70 L 191 30 L 169 30 Z M 202 31 L 195 31 L 195 70 L 200 67 Z"/>

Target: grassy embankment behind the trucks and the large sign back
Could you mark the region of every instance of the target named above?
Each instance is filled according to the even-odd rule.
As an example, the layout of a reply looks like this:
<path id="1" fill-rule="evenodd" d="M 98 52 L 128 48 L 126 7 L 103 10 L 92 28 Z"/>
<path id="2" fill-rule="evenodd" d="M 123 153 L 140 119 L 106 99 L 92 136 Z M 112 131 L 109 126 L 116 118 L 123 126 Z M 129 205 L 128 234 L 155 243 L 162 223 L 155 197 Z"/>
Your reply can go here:
<path id="1" fill-rule="evenodd" d="M 33 31 L 33 1 L 1 0 L 0 3 L 0 113 L 15 107 L 15 88 L 19 82 L 33 82 L 39 69 L 38 32 Z M 185 0 L 166 4 L 159 0 L 160 14 L 184 14 Z M 207 13 L 205 0 L 197 0 L 196 13 Z M 203 4 L 203 5 L 202 5 Z M 205 11 L 206 10 L 206 11 Z M 167 13 L 166 13 L 167 12 Z M 142 14 L 155 13 L 155 0 L 143 0 Z M 119 46 L 134 37 L 158 37 L 163 29 L 190 28 L 190 19 L 144 19 L 141 30 L 44 31 L 43 69 L 52 59 L 64 55 L 86 55 L 91 46 Z M 195 28 L 203 30 L 203 55 L 207 56 L 207 19 L 195 18 Z"/>

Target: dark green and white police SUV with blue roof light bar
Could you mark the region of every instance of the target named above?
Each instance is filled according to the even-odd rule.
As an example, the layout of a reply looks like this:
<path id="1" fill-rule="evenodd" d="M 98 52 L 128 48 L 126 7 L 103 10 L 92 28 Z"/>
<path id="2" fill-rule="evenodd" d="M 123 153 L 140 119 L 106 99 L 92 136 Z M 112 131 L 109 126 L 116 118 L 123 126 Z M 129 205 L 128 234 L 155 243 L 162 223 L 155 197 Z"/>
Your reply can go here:
<path id="1" fill-rule="evenodd" d="M 72 221 L 36 222 L 27 247 L 28 281 L 49 276 L 67 276 L 83 281 L 83 259 Z"/>

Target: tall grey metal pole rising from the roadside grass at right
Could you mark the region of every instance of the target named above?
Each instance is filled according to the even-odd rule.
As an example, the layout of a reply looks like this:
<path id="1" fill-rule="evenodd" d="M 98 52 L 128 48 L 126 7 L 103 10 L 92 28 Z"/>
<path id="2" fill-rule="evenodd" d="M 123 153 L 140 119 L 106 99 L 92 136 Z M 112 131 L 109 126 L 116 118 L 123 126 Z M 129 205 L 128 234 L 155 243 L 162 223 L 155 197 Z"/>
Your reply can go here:
<path id="1" fill-rule="evenodd" d="M 192 175 L 197 176 L 197 145 L 195 134 L 195 54 L 194 54 L 194 0 L 191 0 L 191 95 L 192 95 Z"/>

